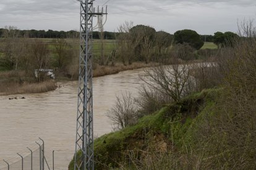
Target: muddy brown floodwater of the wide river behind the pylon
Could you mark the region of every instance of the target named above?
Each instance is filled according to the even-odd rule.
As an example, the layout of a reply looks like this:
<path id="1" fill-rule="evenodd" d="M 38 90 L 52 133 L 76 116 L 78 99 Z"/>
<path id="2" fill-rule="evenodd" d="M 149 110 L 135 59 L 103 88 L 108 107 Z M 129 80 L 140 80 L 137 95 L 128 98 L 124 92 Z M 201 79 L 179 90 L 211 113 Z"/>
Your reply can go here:
<path id="1" fill-rule="evenodd" d="M 93 78 L 94 134 L 111 132 L 106 111 L 113 107 L 116 95 L 130 91 L 137 94 L 142 85 L 139 74 L 143 69 L 123 71 L 116 75 Z M 28 155 L 27 147 L 36 148 L 38 137 L 45 140 L 46 159 L 54 169 L 67 169 L 75 148 L 77 116 L 77 81 L 59 83 L 56 91 L 42 94 L 0 96 L 0 169 L 19 160 L 17 153 Z M 9 100 L 9 97 L 18 99 Z M 25 97 L 25 99 L 19 99 Z"/>

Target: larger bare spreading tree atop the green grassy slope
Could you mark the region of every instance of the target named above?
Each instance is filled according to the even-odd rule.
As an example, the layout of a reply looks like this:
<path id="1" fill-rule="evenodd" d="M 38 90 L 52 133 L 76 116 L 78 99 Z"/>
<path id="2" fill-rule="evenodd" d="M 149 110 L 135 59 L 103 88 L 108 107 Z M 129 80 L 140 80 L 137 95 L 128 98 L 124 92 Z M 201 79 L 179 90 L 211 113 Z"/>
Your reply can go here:
<path id="1" fill-rule="evenodd" d="M 149 88 L 179 102 L 182 97 L 192 91 L 193 86 L 189 74 L 192 65 L 178 64 L 177 58 L 175 60 L 173 65 L 161 65 L 145 70 L 145 75 L 141 78 Z"/>

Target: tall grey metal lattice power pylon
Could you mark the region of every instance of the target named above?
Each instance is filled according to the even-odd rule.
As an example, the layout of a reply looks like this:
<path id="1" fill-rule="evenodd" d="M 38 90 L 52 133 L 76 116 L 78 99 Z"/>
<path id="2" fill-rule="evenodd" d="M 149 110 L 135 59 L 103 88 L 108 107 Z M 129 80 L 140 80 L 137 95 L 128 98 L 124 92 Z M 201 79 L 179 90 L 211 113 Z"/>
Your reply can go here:
<path id="1" fill-rule="evenodd" d="M 80 2 L 80 64 L 79 92 L 77 105 L 77 129 L 75 140 L 74 169 L 94 169 L 93 152 L 93 16 L 103 15 L 93 8 L 95 0 L 78 0 Z M 82 153 L 79 153 L 81 150 Z"/>

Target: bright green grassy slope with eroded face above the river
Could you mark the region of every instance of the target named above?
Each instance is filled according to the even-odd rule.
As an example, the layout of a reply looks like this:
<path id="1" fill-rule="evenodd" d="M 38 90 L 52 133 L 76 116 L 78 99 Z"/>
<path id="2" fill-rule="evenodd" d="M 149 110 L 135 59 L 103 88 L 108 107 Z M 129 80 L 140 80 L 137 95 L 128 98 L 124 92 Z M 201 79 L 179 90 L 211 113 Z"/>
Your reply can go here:
<path id="1" fill-rule="evenodd" d="M 195 124 L 205 108 L 214 103 L 216 91 L 207 90 L 191 95 L 180 103 L 172 103 L 153 115 L 143 117 L 134 126 L 96 139 L 95 168 L 117 168 L 124 161 L 126 150 L 144 150 L 148 145 L 165 145 L 167 147 L 158 149 L 165 148 L 168 152 L 169 145 L 173 143 L 182 150 L 184 143 L 192 142 Z M 71 161 L 69 169 L 73 168 L 74 162 Z"/>

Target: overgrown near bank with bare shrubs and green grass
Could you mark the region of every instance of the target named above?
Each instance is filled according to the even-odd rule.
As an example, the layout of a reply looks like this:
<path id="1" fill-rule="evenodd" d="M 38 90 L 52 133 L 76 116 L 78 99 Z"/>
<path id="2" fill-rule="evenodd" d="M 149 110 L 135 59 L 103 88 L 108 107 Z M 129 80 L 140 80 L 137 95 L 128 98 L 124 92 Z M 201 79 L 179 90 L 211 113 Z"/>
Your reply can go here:
<path id="1" fill-rule="evenodd" d="M 177 70 L 181 77 L 163 70 L 148 73 L 151 89 L 143 89 L 137 111 L 126 112 L 147 116 L 135 125 L 126 120 L 121 131 L 97 139 L 95 167 L 255 169 L 256 29 L 245 23 L 240 31 L 243 38 L 221 48 L 214 65 L 198 65 L 186 73 L 194 75 L 196 86 L 188 96 L 173 95 L 182 87 L 177 86 L 182 85 L 182 69 Z M 164 97 L 175 102 L 163 103 Z M 130 102 L 130 97 L 122 99 Z M 119 105 L 125 103 L 119 99 Z"/>

